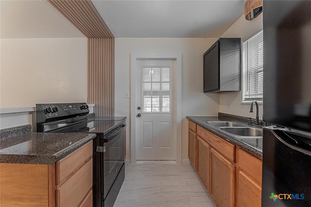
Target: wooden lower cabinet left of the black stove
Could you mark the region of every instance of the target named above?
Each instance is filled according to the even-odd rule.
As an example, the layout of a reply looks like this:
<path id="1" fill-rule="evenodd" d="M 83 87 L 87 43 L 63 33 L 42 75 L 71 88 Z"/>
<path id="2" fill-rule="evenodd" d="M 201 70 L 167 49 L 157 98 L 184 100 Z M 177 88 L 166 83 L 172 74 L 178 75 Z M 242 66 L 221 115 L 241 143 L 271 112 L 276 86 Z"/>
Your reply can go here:
<path id="1" fill-rule="evenodd" d="M 0 207 L 91 207 L 92 148 L 90 141 L 49 165 L 0 163 Z"/>

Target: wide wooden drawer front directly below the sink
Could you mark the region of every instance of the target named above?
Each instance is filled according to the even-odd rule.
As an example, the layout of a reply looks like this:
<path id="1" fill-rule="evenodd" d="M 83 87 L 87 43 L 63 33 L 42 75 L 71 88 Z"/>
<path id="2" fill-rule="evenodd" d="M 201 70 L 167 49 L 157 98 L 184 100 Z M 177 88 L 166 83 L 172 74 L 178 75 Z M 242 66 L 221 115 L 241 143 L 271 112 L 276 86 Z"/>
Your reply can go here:
<path id="1" fill-rule="evenodd" d="M 234 145 L 223 138 L 218 137 L 207 129 L 197 126 L 197 134 L 200 138 L 207 141 L 213 148 L 218 150 L 230 162 L 234 163 Z"/>

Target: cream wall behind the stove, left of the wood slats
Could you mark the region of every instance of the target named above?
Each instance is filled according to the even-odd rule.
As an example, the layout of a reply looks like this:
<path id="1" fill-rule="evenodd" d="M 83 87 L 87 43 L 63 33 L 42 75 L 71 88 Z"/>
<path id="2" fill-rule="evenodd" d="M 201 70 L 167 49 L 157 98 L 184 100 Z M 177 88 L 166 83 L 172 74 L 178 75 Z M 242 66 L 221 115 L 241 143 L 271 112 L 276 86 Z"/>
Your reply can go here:
<path id="1" fill-rule="evenodd" d="M 82 102 L 86 83 L 86 38 L 1 39 L 1 108 Z"/>

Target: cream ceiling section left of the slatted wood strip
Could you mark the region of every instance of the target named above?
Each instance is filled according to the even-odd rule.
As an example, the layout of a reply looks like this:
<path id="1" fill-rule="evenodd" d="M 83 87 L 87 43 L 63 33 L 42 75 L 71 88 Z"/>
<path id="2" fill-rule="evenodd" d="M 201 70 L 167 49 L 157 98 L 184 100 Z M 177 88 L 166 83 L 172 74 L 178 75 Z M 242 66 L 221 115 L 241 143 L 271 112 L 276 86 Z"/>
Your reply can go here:
<path id="1" fill-rule="evenodd" d="M 1 38 L 85 37 L 47 0 L 0 0 Z"/>

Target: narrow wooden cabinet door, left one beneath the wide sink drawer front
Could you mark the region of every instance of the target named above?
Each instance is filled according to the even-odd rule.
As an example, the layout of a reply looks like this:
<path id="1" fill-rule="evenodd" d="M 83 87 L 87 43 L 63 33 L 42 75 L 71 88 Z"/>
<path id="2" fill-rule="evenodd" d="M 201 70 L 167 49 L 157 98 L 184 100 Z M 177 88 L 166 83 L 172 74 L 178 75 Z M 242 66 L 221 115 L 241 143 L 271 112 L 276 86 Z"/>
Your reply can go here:
<path id="1" fill-rule="evenodd" d="M 197 173 L 207 190 L 209 190 L 209 149 L 209 145 L 197 137 Z"/>

